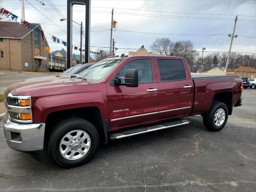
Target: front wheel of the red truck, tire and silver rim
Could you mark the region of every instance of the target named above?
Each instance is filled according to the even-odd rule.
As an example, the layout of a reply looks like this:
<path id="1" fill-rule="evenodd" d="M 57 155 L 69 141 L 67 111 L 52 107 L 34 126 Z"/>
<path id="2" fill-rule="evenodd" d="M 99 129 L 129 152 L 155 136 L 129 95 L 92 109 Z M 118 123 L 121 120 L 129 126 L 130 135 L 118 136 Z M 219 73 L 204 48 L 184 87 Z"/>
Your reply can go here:
<path id="1" fill-rule="evenodd" d="M 70 168 L 90 160 L 99 144 L 96 128 L 82 118 L 68 118 L 54 126 L 48 154 L 58 166 Z"/>

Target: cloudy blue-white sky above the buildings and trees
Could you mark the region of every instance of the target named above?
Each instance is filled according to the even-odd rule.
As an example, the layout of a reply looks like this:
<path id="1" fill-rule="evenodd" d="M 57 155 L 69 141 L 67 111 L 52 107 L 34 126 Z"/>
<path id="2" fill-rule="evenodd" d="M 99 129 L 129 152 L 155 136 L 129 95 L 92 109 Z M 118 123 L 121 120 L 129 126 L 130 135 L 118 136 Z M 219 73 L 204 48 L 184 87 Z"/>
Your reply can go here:
<path id="1" fill-rule="evenodd" d="M 66 0 L 28 2 L 66 32 L 66 22 L 61 22 L 62 17 L 49 5 L 52 2 L 66 17 Z M 51 50 L 65 48 L 62 44 L 53 43 L 51 37 L 54 35 L 66 41 L 66 33 L 28 2 L 25 0 L 26 20 L 42 25 Z M 113 38 L 119 48 L 116 54 L 128 54 L 129 50 L 142 45 L 150 49 L 158 37 L 169 37 L 174 41 L 191 40 L 197 50 L 206 47 L 206 51 L 228 51 L 231 38 L 227 34 L 232 33 L 236 15 L 235 34 L 238 37 L 234 38 L 232 51 L 256 52 L 256 0 L 92 0 L 91 3 L 91 51 L 96 51 L 95 46 L 109 47 L 111 10 L 114 8 L 117 30 L 113 32 Z M 0 6 L 21 16 L 20 0 L 1 0 Z M 74 7 L 73 20 L 84 22 L 84 13 L 84 7 Z M 77 29 L 73 33 L 73 44 L 79 45 L 80 34 Z M 75 53 L 78 54 L 77 51 Z"/>

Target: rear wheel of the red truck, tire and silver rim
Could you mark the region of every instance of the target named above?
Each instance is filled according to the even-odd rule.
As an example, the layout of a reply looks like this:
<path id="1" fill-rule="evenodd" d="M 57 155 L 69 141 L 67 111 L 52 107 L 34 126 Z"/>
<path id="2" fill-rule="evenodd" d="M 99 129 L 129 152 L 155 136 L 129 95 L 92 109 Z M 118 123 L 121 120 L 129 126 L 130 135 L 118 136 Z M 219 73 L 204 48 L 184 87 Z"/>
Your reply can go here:
<path id="1" fill-rule="evenodd" d="M 222 102 L 213 102 L 203 117 L 204 126 L 210 131 L 220 131 L 228 120 L 228 107 Z"/>

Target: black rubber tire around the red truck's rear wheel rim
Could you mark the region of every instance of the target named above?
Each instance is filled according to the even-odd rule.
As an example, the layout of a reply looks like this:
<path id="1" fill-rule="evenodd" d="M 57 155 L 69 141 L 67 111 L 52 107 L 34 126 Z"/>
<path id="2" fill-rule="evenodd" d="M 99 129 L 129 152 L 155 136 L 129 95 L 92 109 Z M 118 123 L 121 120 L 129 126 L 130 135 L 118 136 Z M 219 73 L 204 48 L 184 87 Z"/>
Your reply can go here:
<path id="1" fill-rule="evenodd" d="M 225 111 L 225 119 L 224 119 L 224 122 L 220 126 L 217 126 L 214 123 L 214 115 L 217 112 L 217 110 L 219 110 L 220 108 L 224 109 L 224 111 Z M 212 103 L 210 110 L 203 117 L 204 126 L 210 131 L 222 130 L 222 128 L 225 126 L 227 120 L 228 120 L 228 107 L 226 106 L 226 104 L 224 104 L 222 102 L 216 102 L 216 101 L 214 101 Z"/>

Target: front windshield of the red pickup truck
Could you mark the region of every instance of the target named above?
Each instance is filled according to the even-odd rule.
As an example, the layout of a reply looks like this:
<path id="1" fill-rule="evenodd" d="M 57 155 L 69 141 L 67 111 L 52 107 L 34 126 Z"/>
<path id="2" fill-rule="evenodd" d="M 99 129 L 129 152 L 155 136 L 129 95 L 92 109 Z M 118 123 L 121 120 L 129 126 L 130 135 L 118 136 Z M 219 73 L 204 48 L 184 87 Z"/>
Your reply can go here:
<path id="1" fill-rule="evenodd" d="M 103 60 L 86 69 L 76 78 L 83 78 L 90 83 L 99 83 L 122 60 Z"/>

